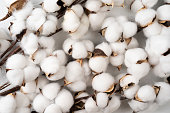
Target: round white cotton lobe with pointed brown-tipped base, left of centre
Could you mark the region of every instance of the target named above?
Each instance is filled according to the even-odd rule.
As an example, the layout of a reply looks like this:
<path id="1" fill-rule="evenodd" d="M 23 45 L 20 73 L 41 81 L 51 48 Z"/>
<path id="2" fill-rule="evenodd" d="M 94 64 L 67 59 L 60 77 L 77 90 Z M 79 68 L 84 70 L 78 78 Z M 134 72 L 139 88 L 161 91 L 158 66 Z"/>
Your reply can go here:
<path id="1" fill-rule="evenodd" d="M 47 75 L 56 73 L 60 68 L 60 61 L 55 56 L 49 56 L 42 60 L 41 69 Z"/>

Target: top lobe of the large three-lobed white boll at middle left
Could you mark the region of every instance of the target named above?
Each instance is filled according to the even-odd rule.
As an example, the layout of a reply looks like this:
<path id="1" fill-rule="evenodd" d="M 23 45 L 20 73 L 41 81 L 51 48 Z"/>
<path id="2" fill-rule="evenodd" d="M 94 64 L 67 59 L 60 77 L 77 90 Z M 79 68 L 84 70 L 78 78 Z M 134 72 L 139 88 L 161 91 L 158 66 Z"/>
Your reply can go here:
<path id="1" fill-rule="evenodd" d="M 26 66 L 27 60 L 24 55 L 14 54 L 6 62 L 7 69 L 22 69 Z"/>

